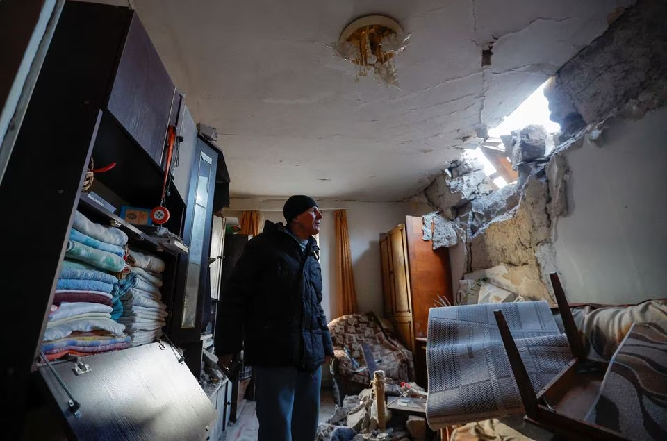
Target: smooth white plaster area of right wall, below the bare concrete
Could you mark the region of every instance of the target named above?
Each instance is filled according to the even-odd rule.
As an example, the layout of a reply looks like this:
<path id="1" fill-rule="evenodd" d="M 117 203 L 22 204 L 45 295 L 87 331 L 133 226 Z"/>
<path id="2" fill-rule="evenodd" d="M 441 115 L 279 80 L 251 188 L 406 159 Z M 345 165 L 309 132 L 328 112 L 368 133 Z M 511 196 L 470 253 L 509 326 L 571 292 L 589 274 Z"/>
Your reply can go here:
<path id="1" fill-rule="evenodd" d="M 568 151 L 570 215 L 554 249 L 568 301 L 667 297 L 667 108 Z"/>

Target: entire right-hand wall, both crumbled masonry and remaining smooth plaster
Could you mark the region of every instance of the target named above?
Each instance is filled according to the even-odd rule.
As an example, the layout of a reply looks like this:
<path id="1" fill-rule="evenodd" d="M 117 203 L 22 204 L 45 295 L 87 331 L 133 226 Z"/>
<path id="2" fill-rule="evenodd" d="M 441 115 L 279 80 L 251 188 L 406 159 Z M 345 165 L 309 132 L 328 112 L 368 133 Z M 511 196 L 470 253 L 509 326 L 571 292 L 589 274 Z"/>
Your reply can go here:
<path id="1" fill-rule="evenodd" d="M 563 132 L 554 149 L 535 127 L 513 133 L 516 184 L 466 192 L 453 181 L 469 183 L 476 167 L 456 165 L 464 176 L 450 167 L 429 185 L 423 197 L 466 231 L 464 243 L 440 245 L 454 281 L 486 277 L 548 299 L 558 272 L 573 302 L 664 297 L 666 18 L 666 3 L 639 1 L 559 69 L 545 95 Z"/>

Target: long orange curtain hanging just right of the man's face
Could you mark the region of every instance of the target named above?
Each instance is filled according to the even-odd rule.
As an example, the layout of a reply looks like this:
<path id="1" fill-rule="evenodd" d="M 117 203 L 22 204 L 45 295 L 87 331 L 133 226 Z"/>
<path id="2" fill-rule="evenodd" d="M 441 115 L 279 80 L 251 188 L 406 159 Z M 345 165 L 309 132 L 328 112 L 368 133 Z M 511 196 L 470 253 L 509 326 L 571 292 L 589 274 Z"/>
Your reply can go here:
<path id="1" fill-rule="evenodd" d="M 354 274 L 352 272 L 352 253 L 349 251 L 349 233 L 345 210 L 334 211 L 336 228 L 336 317 L 357 312 Z"/>

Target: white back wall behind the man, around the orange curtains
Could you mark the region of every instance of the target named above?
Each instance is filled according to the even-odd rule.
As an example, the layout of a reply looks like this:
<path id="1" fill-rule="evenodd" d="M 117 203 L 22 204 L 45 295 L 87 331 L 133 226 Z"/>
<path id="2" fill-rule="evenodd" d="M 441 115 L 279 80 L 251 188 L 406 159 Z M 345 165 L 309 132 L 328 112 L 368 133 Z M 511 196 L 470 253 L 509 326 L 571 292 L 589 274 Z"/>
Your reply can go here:
<path id="1" fill-rule="evenodd" d="M 225 215 L 240 217 L 240 210 L 260 210 L 263 219 L 285 222 L 282 206 L 284 200 L 261 198 L 231 198 Z M 382 280 L 380 273 L 379 235 L 404 222 L 402 203 L 330 201 L 318 199 L 322 210 L 320 230 L 320 265 L 324 282 L 322 308 L 331 320 L 336 305 L 336 243 L 334 238 L 334 210 L 347 210 L 350 252 L 354 271 L 357 304 L 360 312 L 374 311 L 382 316 Z M 263 224 L 262 219 L 262 224 Z"/>

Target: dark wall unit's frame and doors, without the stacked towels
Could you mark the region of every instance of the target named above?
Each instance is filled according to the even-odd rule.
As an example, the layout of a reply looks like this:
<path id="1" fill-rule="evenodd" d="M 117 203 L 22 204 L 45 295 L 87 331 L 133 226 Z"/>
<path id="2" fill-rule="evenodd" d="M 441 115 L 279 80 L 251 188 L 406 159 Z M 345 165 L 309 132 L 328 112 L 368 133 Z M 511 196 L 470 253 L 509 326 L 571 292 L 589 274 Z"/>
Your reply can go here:
<path id="1" fill-rule="evenodd" d="M 201 357 L 200 299 L 208 293 L 210 240 L 206 232 L 211 231 L 214 192 L 220 181 L 216 175 L 224 167 L 222 152 L 212 145 L 201 147 L 199 153 L 190 149 L 192 157 L 199 154 L 200 159 L 190 161 L 190 170 L 182 170 L 181 176 L 188 179 L 187 192 L 167 179 L 165 206 L 170 219 L 165 227 L 187 241 L 190 253 L 188 247 L 165 247 L 160 238 L 151 235 L 151 228 L 128 224 L 118 216 L 122 205 L 158 206 L 165 177 L 161 156 L 174 107 L 174 85 L 155 58 L 157 54 L 147 55 L 152 45 L 146 39 L 135 11 L 129 8 L 67 1 L 0 182 L 0 201 L 13 213 L 0 216 L 5 243 L 12 250 L 3 267 L 10 275 L 3 290 L 11 293 L 3 308 L 11 313 L 0 322 L 0 332 L 13 335 L 4 348 L 11 356 L 0 358 L 0 390 L 3 397 L 13 399 L 5 415 L 15 422 L 7 428 L 8 439 L 22 439 L 26 415 L 34 415 L 28 410 L 47 404 L 56 410 L 53 415 L 64 419 L 72 439 L 117 438 L 113 436 L 116 424 L 129 424 L 126 433 L 137 431 L 135 438 L 183 439 L 205 433 L 213 419 L 211 402 L 205 394 L 202 397 L 197 384 L 200 359 L 196 357 Z M 138 60 L 142 57 L 145 59 Z M 140 70 L 153 69 L 154 74 L 133 74 L 136 66 L 129 67 L 133 63 L 139 63 Z M 184 106 L 179 103 L 177 107 Z M 180 124 L 181 115 L 172 124 Z M 118 208 L 114 213 L 82 197 L 91 159 L 95 167 L 116 163 L 108 172 L 95 173 L 91 188 Z M 229 182 L 228 176 L 226 179 Z M 169 316 L 163 332 L 169 340 L 174 340 L 173 333 L 186 348 L 182 357 L 176 347 L 163 340 L 81 357 L 83 363 L 90 359 L 88 364 L 93 367 L 92 374 L 83 375 L 72 374 L 79 360 L 60 360 L 55 372 L 65 379 L 67 390 L 76 390 L 81 397 L 83 419 L 70 411 L 65 388 L 40 361 L 49 308 L 77 210 L 93 222 L 122 229 L 132 247 L 155 253 L 165 261 L 160 292 Z M 197 280 L 188 273 L 197 274 Z M 190 291 L 186 290 L 188 280 Z M 192 295 L 187 297 L 186 292 Z M 178 334 L 176 328 L 186 332 Z M 92 381 L 107 378 L 106 374 L 113 381 Z M 179 388 L 167 390 L 176 384 Z M 36 394 L 41 388 L 47 393 Z M 101 392 L 104 397 L 99 396 Z M 127 394 L 134 399 L 128 399 Z M 145 401 L 149 396 L 159 399 Z M 133 406 L 140 407 L 142 415 L 163 412 L 152 408 L 153 404 L 170 408 L 170 413 L 190 407 L 181 415 L 186 419 L 172 418 L 164 426 L 150 424 L 148 417 L 145 424 L 133 419 Z M 114 417 L 104 419 L 105 412 Z M 28 424 L 34 425 L 38 419 Z M 190 431 L 183 430 L 188 427 Z"/>

